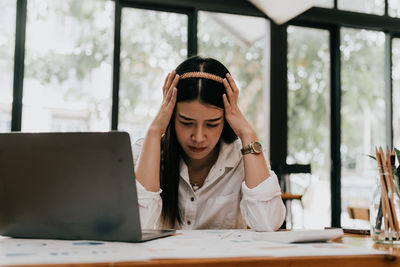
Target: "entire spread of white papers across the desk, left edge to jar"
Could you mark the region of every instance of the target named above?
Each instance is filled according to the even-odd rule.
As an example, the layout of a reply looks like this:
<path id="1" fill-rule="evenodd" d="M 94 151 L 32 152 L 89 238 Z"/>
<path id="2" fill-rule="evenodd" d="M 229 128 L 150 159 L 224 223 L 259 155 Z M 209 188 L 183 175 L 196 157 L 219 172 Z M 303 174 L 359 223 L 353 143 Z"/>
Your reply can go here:
<path id="1" fill-rule="evenodd" d="M 333 242 L 287 244 L 251 230 L 181 230 L 144 243 L 0 239 L 0 266 L 151 259 L 376 255 L 388 252 Z"/>

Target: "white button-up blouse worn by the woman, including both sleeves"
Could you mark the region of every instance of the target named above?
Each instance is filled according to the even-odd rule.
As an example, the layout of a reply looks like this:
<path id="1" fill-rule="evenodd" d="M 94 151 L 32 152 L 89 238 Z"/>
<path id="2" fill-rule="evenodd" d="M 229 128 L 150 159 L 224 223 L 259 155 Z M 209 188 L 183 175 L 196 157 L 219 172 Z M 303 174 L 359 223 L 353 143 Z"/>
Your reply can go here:
<path id="1" fill-rule="evenodd" d="M 133 146 L 134 162 L 143 142 Z M 176 229 L 237 229 L 246 224 L 256 231 L 277 230 L 285 219 L 286 208 L 276 174 L 250 189 L 244 179 L 241 142 L 221 143 L 220 153 L 204 184 L 193 191 L 188 168 L 180 161 L 179 210 L 182 225 Z M 142 229 L 160 228 L 161 189 L 147 191 L 137 180 L 139 212 Z"/>

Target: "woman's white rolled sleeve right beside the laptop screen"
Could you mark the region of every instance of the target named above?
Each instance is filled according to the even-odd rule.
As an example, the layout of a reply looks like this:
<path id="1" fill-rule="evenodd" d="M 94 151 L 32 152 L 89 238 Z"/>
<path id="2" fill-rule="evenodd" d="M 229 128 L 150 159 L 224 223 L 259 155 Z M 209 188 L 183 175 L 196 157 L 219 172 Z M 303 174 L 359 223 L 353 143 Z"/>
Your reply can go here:
<path id="1" fill-rule="evenodd" d="M 139 139 L 133 145 L 133 161 L 137 162 L 140 151 L 142 150 L 143 139 Z M 158 220 L 161 216 L 162 200 L 160 189 L 158 192 L 147 191 L 144 186 L 136 180 L 138 193 L 140 225 L 142 229 L 157 229 Z"/>

